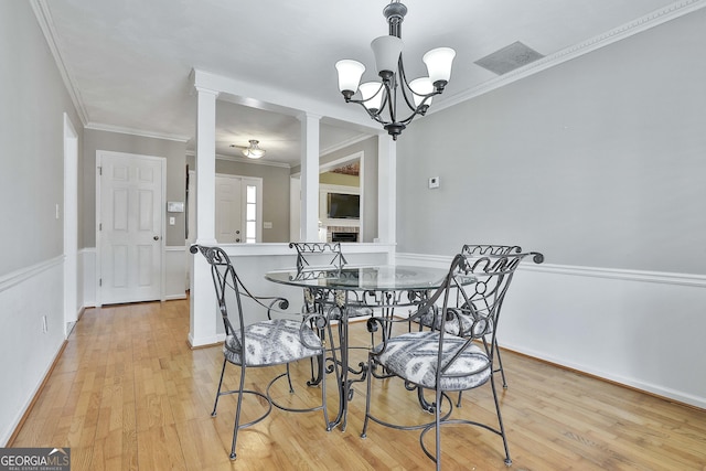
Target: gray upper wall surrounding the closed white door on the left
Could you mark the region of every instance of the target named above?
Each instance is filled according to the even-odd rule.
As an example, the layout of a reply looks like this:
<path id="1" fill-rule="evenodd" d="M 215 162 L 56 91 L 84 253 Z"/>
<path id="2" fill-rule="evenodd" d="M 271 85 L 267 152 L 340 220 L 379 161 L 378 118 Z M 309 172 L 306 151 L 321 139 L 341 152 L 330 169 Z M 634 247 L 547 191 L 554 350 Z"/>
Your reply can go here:
<path id="1" fill-rule="evenodd" d="M 83 214 L 83 247 L 96 246 L 96 151 L 98 150 L 163 157 L 167 160 L 164 214 L 167 214 L 167 201 L 185 203 L 186 146 L 184 142 L 86 129 L 82 197 L 78 210 Z M 169 216 L 175 217 L 175 224 L 165 225 L 165 243 L 168 246 L 183 246 L 186 213 L 169 213 Z"/>

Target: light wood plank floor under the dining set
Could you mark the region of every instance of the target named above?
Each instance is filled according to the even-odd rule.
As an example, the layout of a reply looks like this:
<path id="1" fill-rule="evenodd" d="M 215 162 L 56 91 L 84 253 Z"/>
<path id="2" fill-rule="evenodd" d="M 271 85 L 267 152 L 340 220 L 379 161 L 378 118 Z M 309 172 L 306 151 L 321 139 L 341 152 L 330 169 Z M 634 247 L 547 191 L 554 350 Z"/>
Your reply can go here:
<path id="1" fill-rule="evenodd" d="M 434 468 L 416 431 L 372 424 L 367 438 L 360 437 L 363 384 L 356 385 L 345 431 L 327 432 L 321 413 L 275 409 L 240 432 L 238 458 L 231 462 L 234 398 L 222 398 L 218 416 L 211 417 L 221 347 L 192 351 L 188 331 L 186 301 L 87 310 L 12 446 L 71 447 L 73 471 Z M 365 343 L 364 324 L 352 331 Z M 365 357 L 363 351 L 355 355 Z M 503 358 L 510 387 L 501 400 L 512 469 L 706 470 L 706 411 L 511 352 Z M 261 388 L 280 370 L 250 371 L 252 386 Z M 232 386 L 237 370 L 228 372 Z M 306 372 L 302 366 L 297 373 Z M 381 414 L 398 420 L 431 417 L 419 413 L 415 396 L 397 383 L 375 384 Z M 301 397 L 292 400 L 318 393 L 299 389 Z M 333 387 L 330 393 L 334 408 Z M 258 407 L 253 403 L 248 410 Z M 458 413 L 492 420 L 492 407 L 488 386 L 467 393 Z M 445 429 L 442 442 L 445 469 L 505 469 L 502 441 L 493 433 L 453 427 Z"/>

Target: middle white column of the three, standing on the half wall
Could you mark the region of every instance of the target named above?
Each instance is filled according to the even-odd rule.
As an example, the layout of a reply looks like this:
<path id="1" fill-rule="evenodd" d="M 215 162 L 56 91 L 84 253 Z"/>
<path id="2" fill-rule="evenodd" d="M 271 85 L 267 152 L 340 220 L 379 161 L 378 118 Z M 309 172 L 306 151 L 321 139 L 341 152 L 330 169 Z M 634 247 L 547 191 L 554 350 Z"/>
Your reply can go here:
<path id="1" fill-rule="evenodd" d="M 301 240 L 319 240 L 319 124 L 304 113 L 301 121 Z"/>

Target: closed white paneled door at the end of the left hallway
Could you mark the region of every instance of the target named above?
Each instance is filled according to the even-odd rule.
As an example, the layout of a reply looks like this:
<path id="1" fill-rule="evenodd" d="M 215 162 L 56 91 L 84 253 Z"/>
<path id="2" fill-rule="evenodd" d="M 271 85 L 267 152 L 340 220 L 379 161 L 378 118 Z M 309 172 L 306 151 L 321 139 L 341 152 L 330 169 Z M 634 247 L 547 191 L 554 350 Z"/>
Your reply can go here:
<path id="1" fill-rule="evenodd" d="M 164 159 L 98 151 L 98 303 L 162 298 Z"/>

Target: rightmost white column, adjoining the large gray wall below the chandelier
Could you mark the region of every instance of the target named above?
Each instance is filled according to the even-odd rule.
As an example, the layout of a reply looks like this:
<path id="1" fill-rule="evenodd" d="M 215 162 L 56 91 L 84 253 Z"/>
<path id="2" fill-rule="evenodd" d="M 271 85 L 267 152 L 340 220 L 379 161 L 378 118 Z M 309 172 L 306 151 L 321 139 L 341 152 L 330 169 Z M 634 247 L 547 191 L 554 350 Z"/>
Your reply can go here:
<path id="1" fill-rule="evenodd" d="M 377 137 L 377 237 L 397 242 L 397 142 L 387 135 Z M 392 254 L 394 257 L 394 254 Z"/>

